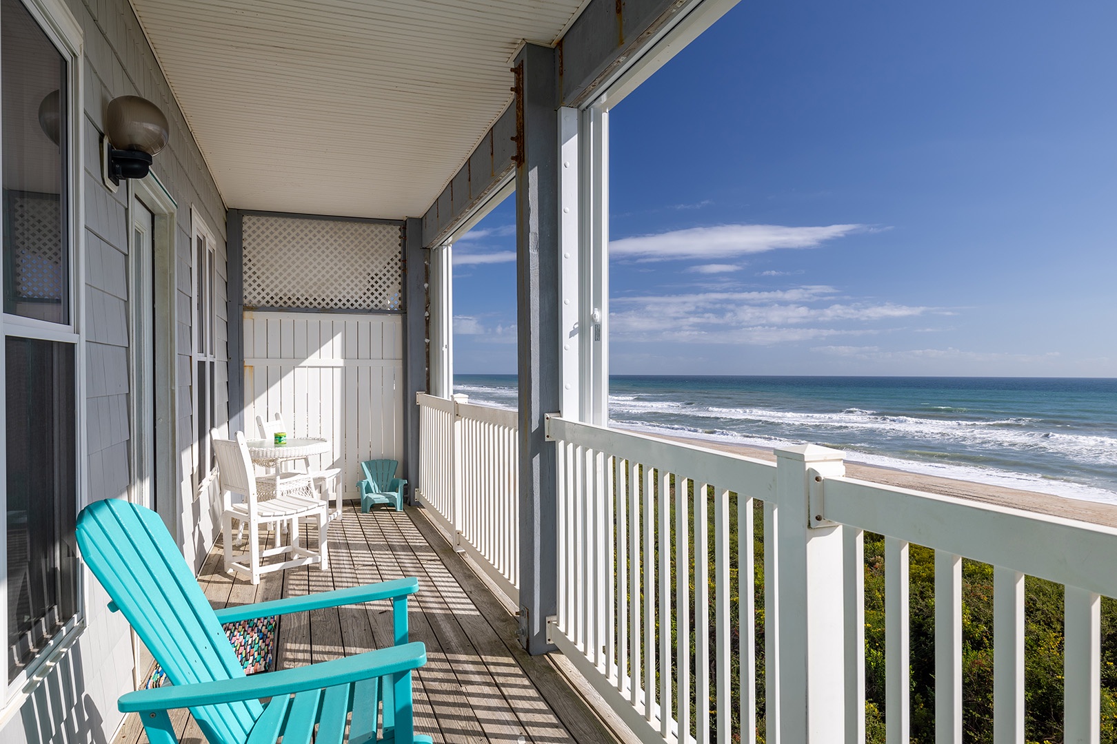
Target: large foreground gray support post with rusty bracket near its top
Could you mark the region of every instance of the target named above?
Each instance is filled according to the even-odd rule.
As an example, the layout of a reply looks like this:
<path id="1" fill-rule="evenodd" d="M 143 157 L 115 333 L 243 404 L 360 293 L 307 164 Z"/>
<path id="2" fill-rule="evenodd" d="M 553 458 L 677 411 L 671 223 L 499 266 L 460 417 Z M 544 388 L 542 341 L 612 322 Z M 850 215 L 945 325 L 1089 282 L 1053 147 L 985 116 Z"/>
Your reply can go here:
<path id="1" fill-rule="evenodd" d="M 557 611 L 555 445 L 545 415 L 560 409 L 558 115 L 555 50 L 516 56 L 516 318 L 519 379 L 519 640 L 547 644 Z"/>

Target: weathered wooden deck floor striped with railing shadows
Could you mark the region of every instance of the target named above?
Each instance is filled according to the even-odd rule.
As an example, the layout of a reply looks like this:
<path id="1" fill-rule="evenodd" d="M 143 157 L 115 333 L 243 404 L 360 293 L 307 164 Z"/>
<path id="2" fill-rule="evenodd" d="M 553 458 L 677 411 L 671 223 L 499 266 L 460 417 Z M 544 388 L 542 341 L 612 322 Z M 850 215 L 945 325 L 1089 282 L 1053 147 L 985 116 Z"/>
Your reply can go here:
<path id="1" fill-rule="evenodd" d="M 428 660 L 414 676 L 416 732 L 436 742 L 615 741 L 547 658 L 521 649 L 515 618 L 419 510 L 346 509 L 330 530 L 330 571 L 292 569 L 266 574 L 252 587 L 226 574 L 221 562 L 218 544 L 199 577 L 214 608 L 418 577 L 409 622 L 411 640 L 427 645 Z M 300 666 L 389 646 L 391 628 L 388 602 L 287 616 L 279 627 L 278 664 Z M 180 741 L 204 742 L 189 714 L 176 713 Z M 133 715 L 114 744 L 144 742 Z"/>

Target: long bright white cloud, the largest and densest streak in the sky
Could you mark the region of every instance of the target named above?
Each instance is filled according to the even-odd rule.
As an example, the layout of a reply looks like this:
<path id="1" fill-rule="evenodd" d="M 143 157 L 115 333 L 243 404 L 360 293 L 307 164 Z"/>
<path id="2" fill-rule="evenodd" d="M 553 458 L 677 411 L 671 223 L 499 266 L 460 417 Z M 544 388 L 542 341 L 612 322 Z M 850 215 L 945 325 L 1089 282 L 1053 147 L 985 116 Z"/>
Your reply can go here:
<path id="1" fill-rule="evenodd" d="M 781 248 L 817 248 L 828 240 L 867 230 L 862 224 L 790 228 L 771 224 L 727 224 L 688 228 L 656 235 L 621 238 L 609 243 L 613 258 L 643 261 L 727 259 Z"/>

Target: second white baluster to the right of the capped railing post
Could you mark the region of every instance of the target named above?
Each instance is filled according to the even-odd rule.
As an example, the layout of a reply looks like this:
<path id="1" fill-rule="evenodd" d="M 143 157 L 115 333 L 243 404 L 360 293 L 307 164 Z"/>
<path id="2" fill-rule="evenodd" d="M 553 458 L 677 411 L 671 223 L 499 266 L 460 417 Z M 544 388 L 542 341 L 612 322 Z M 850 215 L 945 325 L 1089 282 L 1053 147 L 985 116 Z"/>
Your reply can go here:
<path id="1" fill-rule="evenodd" d="M 885 538 L 885 729 L 888 744 L 908 744 L 908 543 Z"/>

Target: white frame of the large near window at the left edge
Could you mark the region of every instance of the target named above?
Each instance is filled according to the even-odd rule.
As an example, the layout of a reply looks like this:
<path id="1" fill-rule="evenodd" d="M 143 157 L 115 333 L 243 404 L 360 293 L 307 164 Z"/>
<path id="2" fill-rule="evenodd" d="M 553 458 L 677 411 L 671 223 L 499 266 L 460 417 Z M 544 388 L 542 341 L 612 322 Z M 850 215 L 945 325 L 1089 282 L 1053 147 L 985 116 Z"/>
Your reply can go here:
<path id="1" fill-rule="evenodd" d="M 75 518 L 85 506 L 88 499 L 88 463 L 86 438 L 86 316 L 85 316 L 85 194 L 82 178 L 82 167 L 85 153 L 82 137 L 82 123 L 85 119 L 84 107 L 84 40 L 82 26 L 77 22 L 65 2 L 61 0 L 18 0 L 31 15 L 39 28 L 61 55 L 66 64 L 67 83 L 67 120 L 66 144 L 68 162 L 66 163 L 67 199 L 67 239 L 69 261 L 67 267 L 69 318 L 67 323 L 56 323 L 37 318 L 27 318 L 0 311 L 0 341 L 8 337 L 29 338 L 46 341 L 59 341 L 74 347 L 74 457 L 75 457 Z M 0 153 L 2 167 L 3 153 Z M 0 265 L 0 273 L 3 267 Z M 4 368 L 6 341 L 0 342 L 0 368 Z M 7 421 L 6 390 L 0 383 L 0 419 Z M 7 483 L 7 443 L 0 447 L 0 483 Z M 0 492 L 0 534 L 7 534 L 7 493 Z M 0 694 L 0 719 L 19 705 L 45 678 L 45 669 L 58 663 L 66 650 L 74 644 L 85 628 L 88 617 L 88 592 L 86 591 L 86 571 L 78 564 L 76 577 L 76 597 L 74 617 L 66 621 L 61 630 L 47 641 L 34 659 L 31 659 L 16 677 L 3 687 Z M 8 551 L 0 550 L 0 637 L 8 637 Z M 4 641 L 7 645 L 7 640 Z"/>

